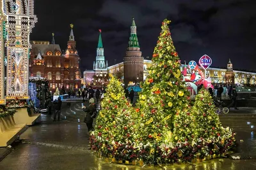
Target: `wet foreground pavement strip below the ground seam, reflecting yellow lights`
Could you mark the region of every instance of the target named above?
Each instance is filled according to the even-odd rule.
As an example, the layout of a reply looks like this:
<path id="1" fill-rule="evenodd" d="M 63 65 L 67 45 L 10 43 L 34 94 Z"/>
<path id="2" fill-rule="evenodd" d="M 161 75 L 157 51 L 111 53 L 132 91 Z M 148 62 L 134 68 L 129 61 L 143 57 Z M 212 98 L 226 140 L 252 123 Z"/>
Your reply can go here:
<path id="1" fill-rule="evenodd" d="M 90 151 L 68 150 L 65 148 L 51 148 L 47 146 L 19 145 L 4 160 L 0 162 L 1 170 L 136 170 L 136 169 L 162 169 L 157 166 L 126 166 L 121 164 L 109 164 L 99 159 Z M 198 164 L 175 164 L 166 166 L 166 169 L 183 170 L 255 170 L 255 160 L 230 160 L 214 159 Z"/>

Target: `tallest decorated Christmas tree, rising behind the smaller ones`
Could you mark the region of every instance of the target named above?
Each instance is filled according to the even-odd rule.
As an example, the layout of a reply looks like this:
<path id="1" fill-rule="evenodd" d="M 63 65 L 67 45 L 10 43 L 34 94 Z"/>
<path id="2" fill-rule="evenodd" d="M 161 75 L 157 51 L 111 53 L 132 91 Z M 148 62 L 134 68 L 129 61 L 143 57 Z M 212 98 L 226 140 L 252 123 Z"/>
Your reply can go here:
<path id="1" fill-rule="evenodd" d="M 162 31 L 154 50 L 152 66 L 148 68 L 149 75 L 141 95 L 156 90 L 154 93 L 162 99 L 164 117 L 170 117 L 168 119 L 170 130 L 176 132 L 174 128 L 179 127 L 183 129 L 179 135 L 186 136 L 190 133 L 191 116 L 187 114 L 190 94 L 183 81 L 180 59 L 173 46 L 168 24 L 170 21 L 167 19 L 162 22 Z"/>

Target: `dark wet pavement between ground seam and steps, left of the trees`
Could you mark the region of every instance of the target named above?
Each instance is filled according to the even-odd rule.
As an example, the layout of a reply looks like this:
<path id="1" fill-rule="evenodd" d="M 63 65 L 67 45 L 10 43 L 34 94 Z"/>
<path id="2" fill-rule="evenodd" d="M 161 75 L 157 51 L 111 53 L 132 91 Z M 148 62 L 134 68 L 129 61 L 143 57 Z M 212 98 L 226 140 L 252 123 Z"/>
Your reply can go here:
<path id="1" fill-rule="evenodd" d="M 53 122 L 51 115 L 42 115 L 42 122 L 20 135 L 27 141 L 53 143 L 58 145 L 88 146 L 89 134 L 85 124 L 61 120 Z"/>

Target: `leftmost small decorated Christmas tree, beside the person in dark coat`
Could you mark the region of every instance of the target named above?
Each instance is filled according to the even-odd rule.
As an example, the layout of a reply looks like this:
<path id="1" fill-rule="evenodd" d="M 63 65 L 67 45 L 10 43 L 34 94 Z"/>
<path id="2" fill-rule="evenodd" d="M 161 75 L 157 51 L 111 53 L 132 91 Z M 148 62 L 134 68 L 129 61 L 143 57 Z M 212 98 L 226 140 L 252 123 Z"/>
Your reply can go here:
<path id="1" fill-rule="evenodd" d="M 125 99 L 120 81 L 112 75 L 106 91 L 90 142 L 92 149 L 100 150 L 101 155 L 113 153 L 117 159 L 123 159 L 125 155 L 122 156 L 118 150 L 124 152 L 125 146 L 132 146 L 135 119 L 132 117 L 131 104 Z"/>

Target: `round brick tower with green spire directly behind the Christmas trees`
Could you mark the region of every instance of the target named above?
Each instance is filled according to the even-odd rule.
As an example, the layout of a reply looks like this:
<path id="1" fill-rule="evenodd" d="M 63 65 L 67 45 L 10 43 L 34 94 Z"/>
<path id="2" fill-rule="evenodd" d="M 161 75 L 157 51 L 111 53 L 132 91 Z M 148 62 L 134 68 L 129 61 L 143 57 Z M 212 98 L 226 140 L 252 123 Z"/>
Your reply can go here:
<path id="1" fill-rule="evenodd" d="M 127 86 L 129 82 L 140 81 L 143 81 L 143 57 L 141 57 L 135 21 L 132 18 L 129 46 L 124 57 L 124 84 Z"/>

